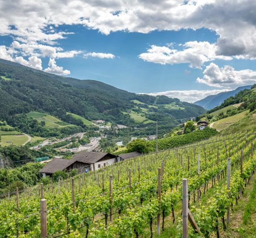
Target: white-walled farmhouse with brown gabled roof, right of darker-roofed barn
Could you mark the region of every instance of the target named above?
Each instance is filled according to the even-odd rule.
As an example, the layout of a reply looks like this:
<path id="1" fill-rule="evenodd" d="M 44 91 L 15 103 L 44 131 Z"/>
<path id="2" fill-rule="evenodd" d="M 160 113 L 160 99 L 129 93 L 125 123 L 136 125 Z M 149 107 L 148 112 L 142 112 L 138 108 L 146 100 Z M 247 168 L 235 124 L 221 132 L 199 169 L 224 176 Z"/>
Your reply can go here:
<path id="1" fill-rule="evenodd" d="M 84 163 L 89 170 L 94 171 L 114 164 L 116 162 L 116 156 L 105 152 L 83 151 L 76 154 L 71 160 Z"/>

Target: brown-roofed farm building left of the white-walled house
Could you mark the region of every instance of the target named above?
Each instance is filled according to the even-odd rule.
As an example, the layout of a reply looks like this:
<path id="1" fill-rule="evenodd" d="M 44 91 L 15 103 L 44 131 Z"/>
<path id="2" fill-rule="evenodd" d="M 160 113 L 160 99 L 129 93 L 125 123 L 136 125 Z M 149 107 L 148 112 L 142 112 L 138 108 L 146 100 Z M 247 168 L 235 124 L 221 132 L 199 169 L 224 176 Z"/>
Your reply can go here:
<path id="1" fill-rule="evenodd" d="M 43 174 L 43 178 L 46 175 L 52 176 L 56 171 L 70 171 L 72 169 L 77 169 L 78 172 L 83 172 L 86 169 L 86 164 L 83 162 L 75 161 L 72 159 L 59 159 L 54 158 L 42 169 L 39 170 L 39 173 Z M 87 166 L 88 167 L 88 166 Z"/>

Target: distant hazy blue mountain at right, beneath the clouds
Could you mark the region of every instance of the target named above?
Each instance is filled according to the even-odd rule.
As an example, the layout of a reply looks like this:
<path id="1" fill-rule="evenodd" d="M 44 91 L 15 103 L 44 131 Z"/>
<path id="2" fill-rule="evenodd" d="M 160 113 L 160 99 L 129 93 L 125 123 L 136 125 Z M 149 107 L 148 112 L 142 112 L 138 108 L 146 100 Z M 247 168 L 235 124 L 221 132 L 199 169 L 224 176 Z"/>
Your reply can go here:
<path id="1" fill-rule="evenodd" d="M 201 99 L 199 101 L 194 102 L 194 104 L 199 105 L 205 109 L 213 109 L 214 107 L 220 106 L 225 99 L 235 96 L 236 93 L 244 90 L 244 89 L 250 89 L 252 85 L 242 86 L 232 91 L 227 92 L 221 92 L 216 95 L 209 95 L 204 99 Z"/>

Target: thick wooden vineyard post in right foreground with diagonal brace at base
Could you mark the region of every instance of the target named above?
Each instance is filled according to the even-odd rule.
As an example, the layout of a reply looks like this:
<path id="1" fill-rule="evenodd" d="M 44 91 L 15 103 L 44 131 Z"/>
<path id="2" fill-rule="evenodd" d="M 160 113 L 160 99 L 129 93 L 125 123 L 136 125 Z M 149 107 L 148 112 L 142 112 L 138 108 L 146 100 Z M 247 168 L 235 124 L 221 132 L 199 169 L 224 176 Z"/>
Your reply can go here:
<path id="1" fill-rule="evenodd" d="M 188 179 L 182 179 L 182 238 L 188 238 Z"/>

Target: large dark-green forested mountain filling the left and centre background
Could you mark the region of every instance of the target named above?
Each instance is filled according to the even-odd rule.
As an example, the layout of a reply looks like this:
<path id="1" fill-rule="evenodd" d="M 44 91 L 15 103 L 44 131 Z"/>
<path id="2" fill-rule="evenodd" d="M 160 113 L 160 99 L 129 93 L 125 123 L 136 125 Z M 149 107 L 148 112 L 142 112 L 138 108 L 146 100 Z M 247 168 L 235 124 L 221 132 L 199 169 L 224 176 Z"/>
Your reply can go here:
<path id="1" fill-rule="evenodd" d="M 22 124 L 24 129 L 28 120 L 21 115 L 31 111 L 79 126 L 81 121 L 69 113 L 137 127 L 158 120 L 167 127 L 200 115 L 205 109 L 179 99 L 131 93 L 99 81 L 66 78 L 0 60 L 0 120 L 18 128 Z M 30 125 L 33 123 L 30 121 Z"/>

